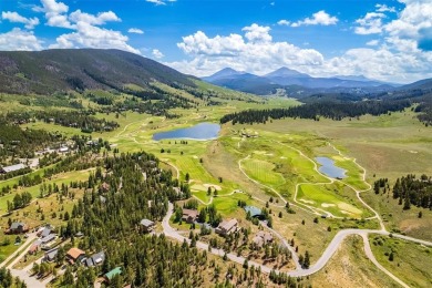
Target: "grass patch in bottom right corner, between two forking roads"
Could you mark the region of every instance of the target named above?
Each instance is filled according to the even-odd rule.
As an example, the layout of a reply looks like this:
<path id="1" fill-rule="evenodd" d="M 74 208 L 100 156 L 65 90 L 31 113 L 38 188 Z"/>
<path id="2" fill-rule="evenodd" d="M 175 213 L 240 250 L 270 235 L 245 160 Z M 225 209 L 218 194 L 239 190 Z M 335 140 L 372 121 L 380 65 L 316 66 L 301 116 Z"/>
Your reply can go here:
<path id="1" fill-rule="evenodd" d="M 432 248 L 383 236 L 369 241 L 377 260 L 410 287 L 432 286 Z M 393 251 L 393 260 L 389 260 Z"/>

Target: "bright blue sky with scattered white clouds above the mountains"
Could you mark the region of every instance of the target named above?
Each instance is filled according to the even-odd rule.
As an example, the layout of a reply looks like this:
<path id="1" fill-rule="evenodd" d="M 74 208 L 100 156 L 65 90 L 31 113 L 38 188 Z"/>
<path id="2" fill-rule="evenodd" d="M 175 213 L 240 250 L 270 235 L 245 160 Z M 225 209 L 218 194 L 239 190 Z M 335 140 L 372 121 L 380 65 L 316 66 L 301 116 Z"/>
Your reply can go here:
<path id="1" fill-rule="evenodd" d="M 0 0 L 0 50 L 121 49 L 204 76 L 432 78 L 432 0 Z"/>

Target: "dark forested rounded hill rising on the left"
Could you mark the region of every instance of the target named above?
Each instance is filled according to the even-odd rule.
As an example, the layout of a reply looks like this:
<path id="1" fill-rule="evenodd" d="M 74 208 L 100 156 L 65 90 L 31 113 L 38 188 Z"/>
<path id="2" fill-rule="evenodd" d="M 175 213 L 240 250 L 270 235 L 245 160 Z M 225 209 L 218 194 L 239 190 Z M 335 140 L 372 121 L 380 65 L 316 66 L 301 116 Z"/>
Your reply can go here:
<path id="1" fill-rule="evenodd" d="M 47 94 L 62 90 L 147 88 L 150 82 L 195 84 L 174 69 L 120 51 L 99 49 L 0 52 L 0 92 Z"/>

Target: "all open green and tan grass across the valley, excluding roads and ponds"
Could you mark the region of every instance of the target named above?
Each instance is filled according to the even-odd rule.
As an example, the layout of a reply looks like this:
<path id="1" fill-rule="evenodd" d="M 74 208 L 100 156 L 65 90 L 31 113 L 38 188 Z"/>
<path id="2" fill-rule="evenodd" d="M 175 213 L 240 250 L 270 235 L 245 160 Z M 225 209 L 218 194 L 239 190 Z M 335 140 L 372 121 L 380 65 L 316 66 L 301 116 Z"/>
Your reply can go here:
<path id="1" fill-rule="evenodd" d="M 160 88 L 172 89 L 161 85 Z M 219 93 L 226 93 L 224 89 L 214 89 Z M 188 93 L 181 96 L 191 97 Z M 306 250 L 310 251 L 311 263 L 319 258 L 338 230 L 343 228 L 378 228 L 377 220 L 363 220 L 372 216 L 371 213 L 357 199 L 354 191 L 344 185 L 348 184 L 359 191 L 369 188 L 369 185 L 362 178 L 364 171 L 359 165 L 366 168 L 366 181 L 369 184 L 372 184 L 378 177 L 394 179 L 408 173 L 432 175 L 432 165 L 428 161 L 432 158 L 432 136 L 426 133 L 429 130 L 416 120 L 413 120 L 413 114 L 408 111 L 379 117 L 367 115 L 352 121 L 322 119 L 316 122 L 287 119 L 269 121 L 265 125 L 233 126 L 232 124 L 225 124 L 222 127 L 219 138 L 204 142 L 188 141 L 187 145 L 179 144 L 178 141 L 176 143 L 175 140 L 160 142 L 152 140 L 156 132 L 192 126 L 199 122 L 217 123 L 222 115 L 244 109 L 298 104 L 292 100 L 276 97 L 263 101 L 266 104 L 246 103 L 236 100 L 236 97 L 243 96 L 248 97 L 250 95 L 238 93 L 233 96 L 233 100 L 229 96 L 219 99 L 218 101 L 223 103 L 220 106 L 199 105 L 198 109 L 193 111 L 175 109 L 171 112 L 181 115 L 181 117 L 169 120 L 131 112 L 120 115 L 119 119 L 113 113 L 110 115 L 97 114 L 97 117 L 119 122 L 121 127 L 113 132 L 93 133 L 92 137 L 103 137 L 110 143 L 116 144 L 121 152 L 146 151 L 153 153 L 160 160 L 178 168 L 181 181 L 184 181 L 186 173 L 188 173 L 193 195 L 205 204 L 212 199 L 207 195 L 208 185 L 219 186 L 218 196 L 213 197 L 213 203 L 224 218 L 236 217 L 243 219 L 245 217 L 244 210 L 238 207 L 239 199 L 245 200 L 248 205 L 261 208 L 270 196 L 277 198 L 276 193 L 263 185 L 274 188 L 286 199 L 294 202 L 295 188 L 298 184 L 301 184 L 297 197 L 300 203 L 304 200 L 305 204 L 316 207 L 319 212 L 327 210 L 335 216 L 347 217 L 346 219 L 319 218 L 319 223 L 313 223 L 317 215 L 297 207 L 294 207 L 296 214 L 288 214 L 284 207 L 280 207 L 282 206 L 281 200 L 269 204 L 275 229 L 286 239 L 294 238 L 300 254 Z M 256 97 L 251 97 L 256 100 Z M 50 131 L 58 130 L 68 135 L 81 133 L 75 128 L 41 122 L 27 126 Z M 241 131 L 247 131 L 253 135 L 257 135 L 257 137 L 241 137 Z M 335 145 L 341 152 L 341 155 L 328 143 Z M 164 150 L 164 153 L 162 153 L 162 150 Z M 313 158 L 317 156 L 328 156 L 335 160 L 337 166 L 348 171 L 348 177 L 330 184 L 328 177 L 316 171 L 317 163 Z M 359 165 L 356 164 L 354 160 Z M 167 164 L 162 166 L 169 167 L 173 175 L 176 175 L 174 167 Z M 373 176 L 374 174 L 376 176 Z M 263 185 L 250 181 L 247 176 Z M 72 179 L 78 179 L 76 177 L 85 179 L 86 175 L 68 174 L 63 175 L 63 178 L 54 178 L 52 182 L 61 183 L 63 181 L 69 183 Z M 222 183 L 219 177 L 223 178 Z M 12 179 L 9 184 L 12 184 L 13 181 L 17 179 Z M 6 182 L 0 183 L 0 187 L 4 184 Z M 243 193 L 228 195 L 235 189 L 240 189 Z M 34 197 L 39 195 L 38 186 L 25 191 L 29 191 Z M 6 202 L 11 199 L 11 196 L 0 198 L 0 209 L 4 209 Z M 432 212 L 423 212 L 423 217 L 419 219 L 418 208 L 412 207 L 411 210 L 402 212 L 401 207 L 391 197 L 388 198 L 388 195 L 374 195 L 373 192 L 364 192 L 362 197 L 372 207 L 378 208 L 388 228 L 394 232 L 401 230 L 415 237 L 432 239 Z M 54 199 L 47 198 L 40 202 L 43 209 L 47 209 L 47 216 L 59 208 L 50 207 L 51 202 L 55 203 Z M 73 205 L 73 202 L 68 203 L 65 209 L 70 209 L 71 205 Z M 199 204 L 199 207 L 204 206 L 204 204 Z M 35 225 L 40 223 L 40 215 L 34 214 L 34 206 L 31 206 L 25 212 L 30 213 L 30 222 L 34 218 Z M 280 212 L 282 213 L 281 218 L 278 217 Z M 19 212 L 14 216 L 21 217 L 22 213 Z M 3 225 L 6 220 L 2 219 L 1 224 Z M 60 219 L 51 220 L 61 224 Z M 302 220 L 305 220 L 305 225 Z M 184 225 L 182 229 L 188 229 L 188 226 Z M 412 254 L 421 261 L 429 260 L 423 258 L 428 254 L 421 254 L 422 250 L 416 246 L 411 247 L 408 244 L 402 246 L 402 244 L 387 240 L 383 246 L 373 247 L 377 258 L 383 265 L 385 258 L 380 255 L 383 255 L 389 246 L 397 246 L 400 251 L 404 249 L 412 250 Z M 415 250 L 416 248 L 420 250 Z M 326 270 L 311 276 L 308 281 L 313 287 L 329 287 L 336 284 L 349 287 L 394 286 L 392 280 L 383 278 L 382 272 L 360 251 L 362 251 L 361 239 L 350 237 L 329 265 L 326 266 Z M 401 278 L 410 277 L 408 272 L 408 276 L 403 276 L 404 271 L 400 271 L 401 267 L 411 265 L 413 261 L 413 258 L 403 257 L 397 256 L 397 259 L 401 261 L 400 267 L 392 267 L 393 263 L 385 266 L 389 270 L 394 269 L 395 274 L 399 269 Z M 410 271 L 410 275 L 419 274 L 419 276 L 415 276 L 419 280 L 416 280 L 418 282 L 408 282 L 413 286 L 428 284 L 424 279 L 430 278 L 430 275 L 423 272 L 421 267 L 415 265 L 412 265 L 412 267 L 413 270 Z"/>

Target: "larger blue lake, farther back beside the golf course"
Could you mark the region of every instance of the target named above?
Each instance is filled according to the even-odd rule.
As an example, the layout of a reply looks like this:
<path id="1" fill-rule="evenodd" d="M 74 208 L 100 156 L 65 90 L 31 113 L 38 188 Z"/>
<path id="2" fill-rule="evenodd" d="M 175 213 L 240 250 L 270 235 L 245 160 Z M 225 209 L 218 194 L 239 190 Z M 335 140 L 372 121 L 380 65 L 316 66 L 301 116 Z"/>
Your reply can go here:
<path id="1" fill-rule="evenodd" d="M 214 140 L 219 134 L 220 125 L 215 123 L 199 123 L 187 128 L 176 128 L 166 132 L 160 132 L 153 135 L 153 140 L 166 138 L 186 138 L 186 140 Z"/>

